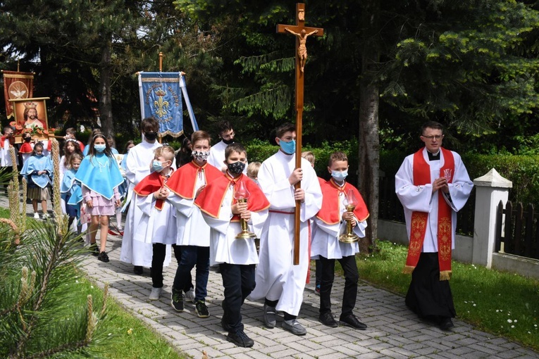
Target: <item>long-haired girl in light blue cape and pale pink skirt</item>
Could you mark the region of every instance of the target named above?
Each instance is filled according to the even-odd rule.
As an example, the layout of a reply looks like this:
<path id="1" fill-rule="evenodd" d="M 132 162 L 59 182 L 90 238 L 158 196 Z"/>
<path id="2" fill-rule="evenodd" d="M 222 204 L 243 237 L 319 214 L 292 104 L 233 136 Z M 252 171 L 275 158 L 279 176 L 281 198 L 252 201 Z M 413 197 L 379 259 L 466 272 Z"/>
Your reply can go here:
<path id="1" fill-rule="evenodd" d="M 75 180 L 81 184 L 82 203 L 86 205 L 86 212 L 92 216 L 89 225 L 90 248 L 94 255 L 97 255 L 97 259 L 109 262 L 109 256 L 105 252 L 109 217 L 114 214 L 115 207 L 120 206 L 118 186 L 122 184 L 123 177 L 104 134 L 95 134 L 88 147 L 88 156 L 80 163 Z M 100 224 L 100 242 L 97 249 L 95 237 Z"/>

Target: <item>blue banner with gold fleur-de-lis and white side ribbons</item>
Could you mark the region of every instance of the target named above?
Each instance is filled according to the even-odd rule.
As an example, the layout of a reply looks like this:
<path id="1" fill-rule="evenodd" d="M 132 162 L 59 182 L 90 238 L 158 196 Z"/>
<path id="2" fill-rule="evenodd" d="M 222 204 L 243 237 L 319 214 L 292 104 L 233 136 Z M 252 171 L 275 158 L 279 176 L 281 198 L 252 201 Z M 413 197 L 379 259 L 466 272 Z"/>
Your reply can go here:
<path id="1" fill-rule="evenodd" d="M 139 73 L 140 112 L 142 118 L 159 121 L 159 135 L 179 137 L 183 133 L 182 94 L 194 131 L 198 130 L 183 73 Z"/>

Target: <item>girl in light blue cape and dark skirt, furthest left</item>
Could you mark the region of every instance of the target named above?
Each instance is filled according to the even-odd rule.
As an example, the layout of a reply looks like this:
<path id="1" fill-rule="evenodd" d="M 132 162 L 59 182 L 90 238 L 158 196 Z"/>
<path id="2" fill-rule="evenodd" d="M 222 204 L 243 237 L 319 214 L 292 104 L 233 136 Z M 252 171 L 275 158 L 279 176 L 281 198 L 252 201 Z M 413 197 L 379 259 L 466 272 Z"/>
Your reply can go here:
<path id="1" fill-rule="evenodd" d="M 34 208 L 34 218 L 39 219 L 37 213 L 37 201 L 41 201 L 43 218 L 47 218 L 47 200 L 51 199 L 51 177 L 52 163 L 49 156 L 43 156 L 43 144 L 37 142 L 32 151 L 32 156 L 28 158 L 20 174 L 25 177 L 28 184 L 27 196 L 32 200 Z"/>

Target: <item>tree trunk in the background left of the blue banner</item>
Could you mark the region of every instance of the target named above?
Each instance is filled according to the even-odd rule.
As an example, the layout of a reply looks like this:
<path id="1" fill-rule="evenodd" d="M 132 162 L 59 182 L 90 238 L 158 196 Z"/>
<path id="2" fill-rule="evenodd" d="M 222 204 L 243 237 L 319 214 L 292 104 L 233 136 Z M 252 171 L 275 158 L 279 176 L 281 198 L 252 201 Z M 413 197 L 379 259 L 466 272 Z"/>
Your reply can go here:
<path id="1" fill-rule="evenodd" d="M 99 119 L 101 120 L 101 132 L 106 136 L 114 137 L 114 123 L 112 120 L 112 94 L 111 94 L 111 35 L 101 48 L 101 63 L 99 63 Z"/>

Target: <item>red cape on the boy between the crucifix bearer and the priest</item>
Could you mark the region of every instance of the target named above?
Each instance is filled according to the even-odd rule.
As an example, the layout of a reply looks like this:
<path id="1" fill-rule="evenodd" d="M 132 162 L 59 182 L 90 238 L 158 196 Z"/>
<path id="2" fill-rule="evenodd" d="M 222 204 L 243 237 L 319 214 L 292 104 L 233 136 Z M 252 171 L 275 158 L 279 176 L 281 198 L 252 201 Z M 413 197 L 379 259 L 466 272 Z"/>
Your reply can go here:
<path id="1" fill-rule="evenodd" d="M 352 186 L 352 184 L 345 182 L 343 187 L 339 187 L 332 177 L 329 181 L 324 182 L 321 185 L 321 189 L 322 208 L 318 211 L 318 213 L 316 213 L 316 218 L 322 222 L 327 223 L 328 225 L 335 225 L 340 222 L 341 215 L 339 210 L 339 194 L 340 192 L 343 192 L 346 196 L 349 189 L 352 189 L 358 202 L 356 208 L 354 208 L 354 215 L 356 216 L 357 220 L 359 220 L 359 222 L 363 222 L 368 218 L 368 209 L 363 197 L 361 197 L 359 191 L 356 189 L 356 187 Z"/>

